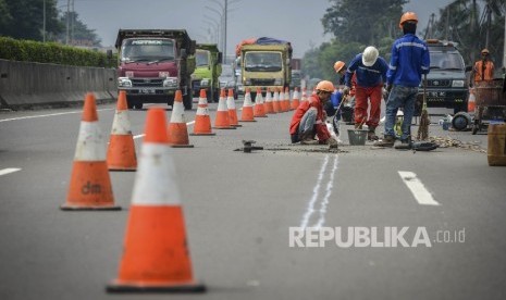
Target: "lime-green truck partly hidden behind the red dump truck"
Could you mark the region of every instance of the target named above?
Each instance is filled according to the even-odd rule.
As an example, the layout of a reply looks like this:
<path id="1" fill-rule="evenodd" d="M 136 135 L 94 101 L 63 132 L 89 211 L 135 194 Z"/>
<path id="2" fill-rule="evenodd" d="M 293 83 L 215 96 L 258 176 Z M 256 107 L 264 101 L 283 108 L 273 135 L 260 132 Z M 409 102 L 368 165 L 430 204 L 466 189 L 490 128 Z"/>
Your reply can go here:
<path id="1" fill-rule="evenodd" d="M 192 91 L 198 97 L 200 89 L 205 89 L 211 102 L 220 98 L 221 63 L 223 54 L 215 43 L 197 43 L 195 51 L 195 71 L 192 74 Z"/>

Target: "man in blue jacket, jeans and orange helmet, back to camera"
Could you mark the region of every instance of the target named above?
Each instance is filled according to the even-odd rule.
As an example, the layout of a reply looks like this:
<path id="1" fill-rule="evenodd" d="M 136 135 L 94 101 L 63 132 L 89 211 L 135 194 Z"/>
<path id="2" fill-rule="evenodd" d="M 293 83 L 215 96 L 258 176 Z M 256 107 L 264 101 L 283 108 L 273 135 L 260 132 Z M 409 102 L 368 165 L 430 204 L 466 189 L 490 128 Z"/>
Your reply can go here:
<path id="1" fill-rule="evenodd" d="M 410 147 L 411 118 L 415 112 L 415 101 L 421 75 L 430 71 L 430 55 L 427 43 L 419 39 L 417 32 L 418 16 L 414 12 L 406 12 L 400 17 L 399 28 L 404 36 L 394 41 L 392 58 L 386 74 L 386 90 L 388 99 L 385 110 L 385 136 L 374 146 L 392 147 L 395 142 L 394 124 L 399 108 L 404 108 L 403 134 L 400 142 Z"/>

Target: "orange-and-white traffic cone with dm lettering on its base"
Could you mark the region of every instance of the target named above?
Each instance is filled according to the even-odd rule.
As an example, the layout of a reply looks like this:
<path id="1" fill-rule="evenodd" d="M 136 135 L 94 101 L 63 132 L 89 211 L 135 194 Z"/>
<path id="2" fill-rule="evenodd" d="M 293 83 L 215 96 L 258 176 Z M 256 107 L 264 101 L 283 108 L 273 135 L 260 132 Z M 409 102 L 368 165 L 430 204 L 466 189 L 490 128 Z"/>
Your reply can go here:
<path id="1" fill-rule="evenodd" d="M 106 162 L 106 143 L 98 125 L 95 96 L 85 98 L 79 135 L 66 202 L 60 207 L 73 210 L 121 210 L 114 205 L 111 178 Z"/>

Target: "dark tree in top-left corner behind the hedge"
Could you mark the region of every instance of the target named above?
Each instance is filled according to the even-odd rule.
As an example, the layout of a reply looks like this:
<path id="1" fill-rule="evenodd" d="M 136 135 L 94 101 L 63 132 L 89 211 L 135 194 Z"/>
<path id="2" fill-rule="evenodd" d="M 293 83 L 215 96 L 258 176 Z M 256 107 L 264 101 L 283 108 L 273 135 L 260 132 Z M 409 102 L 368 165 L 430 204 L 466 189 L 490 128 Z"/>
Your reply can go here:
<path id="1" fill-rule="evenodd" d="M 0 35 L 18 39 L 42 40 L 44 1 L 46 32 L 62 30 L 58 21 L 57 0 L 0 0 Z"/>

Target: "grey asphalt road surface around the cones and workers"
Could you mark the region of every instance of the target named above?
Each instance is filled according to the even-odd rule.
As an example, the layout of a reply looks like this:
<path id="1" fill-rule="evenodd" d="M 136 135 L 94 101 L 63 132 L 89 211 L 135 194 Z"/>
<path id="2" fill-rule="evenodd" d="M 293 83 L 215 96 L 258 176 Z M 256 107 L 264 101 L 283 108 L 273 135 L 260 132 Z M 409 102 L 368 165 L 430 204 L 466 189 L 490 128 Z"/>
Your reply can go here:
<path id="1" fill-rule="evenodd" d="M 99 105 L 107 139 L 113 115 Z M 129 111 L 134 135 L 145 116 Z M 291 145 L 291 116 L 172 150 L 193 268 L 208 291 L 118 296 L 104 287 L 118 276 L 135 173 L 110 173 L 122 211 L 63 212 L 81 110 L 0 112 L 0 299 L 506 298 L 506 167 L 488 165 L 486 135 L 431 125 L 464 147 L 414 153 L 349 146 L 344 134 L 329 153 Z M 233 151 L 243 139 L 266 150 Z M 336 236 L 311 238 L 314 227 Z"/>

